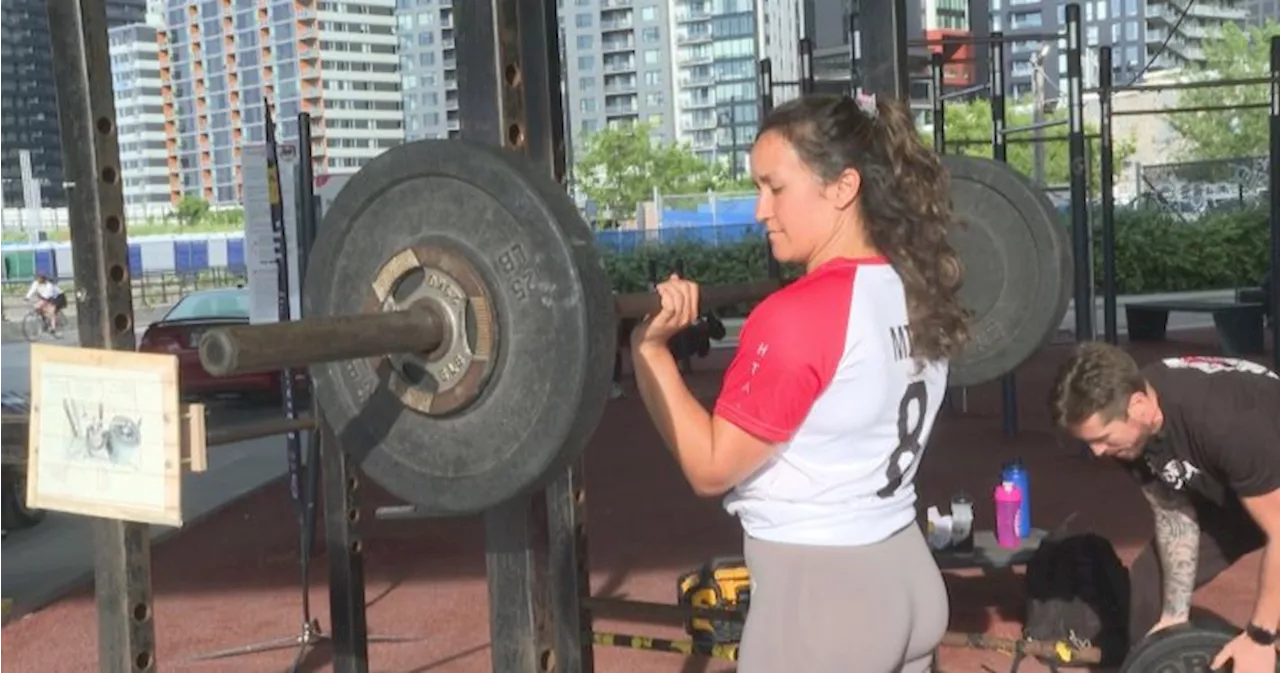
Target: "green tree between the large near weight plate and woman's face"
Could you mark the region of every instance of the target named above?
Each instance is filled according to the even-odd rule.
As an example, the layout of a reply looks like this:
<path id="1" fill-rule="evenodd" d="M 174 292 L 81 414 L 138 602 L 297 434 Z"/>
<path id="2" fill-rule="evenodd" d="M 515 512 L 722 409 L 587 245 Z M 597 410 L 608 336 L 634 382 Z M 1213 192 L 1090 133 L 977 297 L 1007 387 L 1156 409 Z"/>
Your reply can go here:
<path id="1" fill-rule="evenodd" d="M 733 182 L 723 164 L 698 157 L 687 145 L 650 141 L 648 123 L 608 127 L 586 138 L 575 175 L 602 215 L 613 220 L 635 216 L 636 206 L 664 194 L 722 189 Z"/>

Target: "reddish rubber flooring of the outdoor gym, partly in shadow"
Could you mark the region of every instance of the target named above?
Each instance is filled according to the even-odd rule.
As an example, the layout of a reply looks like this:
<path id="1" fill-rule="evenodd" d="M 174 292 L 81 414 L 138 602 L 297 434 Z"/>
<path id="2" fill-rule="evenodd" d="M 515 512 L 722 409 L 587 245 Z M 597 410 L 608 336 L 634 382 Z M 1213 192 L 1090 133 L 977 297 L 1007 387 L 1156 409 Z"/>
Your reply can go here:
<path id="1" fill-rule="evenodd" d="M 1176 340 L 1135 349 L 1139 360 L 1170 353 L 1212 353 L 1213 335 L 1176 333 Z M 1112 539 L 1129 562 L 1149 535 L 1140 495 L 1119 470 L 1083 457 L 1047 431 L 1044 390 L 1065 347 L 1048 347 L 1019 370 L 1021 432 L 1005 439 L 1000 386 L 969 390 L 968 412 L 947 413 L 924 461 L 922 507 L 945 503 L 959 489 L 986 494 L 1004 461 L 1021 457 L 1032 475 L 1033 522 L 1052 527 L 1078 512 L 1076 526 Z M 727 353 L 695 361 L 691 383 L 714 397 Z M 639 399 L 611 403 L 588 453 L 590 559 L 596 595 L 672 601 L 676 576 L 708 557 L 736 553 L 741 532 L 717 500 L 694 496 L 653 431 Z M 376 487 L 366 503 L 387 503 Z M 991 526 L 982 509 L 979 526 Z M 371 511 L 371 509 L 370 509 Z M 191 526 L 154 550 L 155 618 L 160 670 L 253 673 L 285 670 L 293 649 L 220 661 L 191 656 L 297 635 L 301 615 L 297 534 L 288 490 L 275 482 Z M 320 546 L 323 549 L 323 546 Z M 328 628 L 323 555 L 315 560 L 312 612 Z M 370 670 L 384 673 L 489 670 L 488 603 L 479 521 L 375 522 L 366 537 L 371 633 L 410 635 L 408 644 L 371 644 Z M 1197 603 L 1239 623 L 1252 606 L 1257 555 L 1197 594 Z M 1021 577 L 977 572 L 947 574 L 951 628 L 1015 636 L 1021 619 Z M 678 637 L 653 624 L 596 623 L 599 631 Z M 0 629 L 0 670 L 87 673 L 97 670 L 92 587 Z M 303 670 L 330 670 L 321 645 Z M 945 649 L 942 670 L 1009 669 L 1007 654 Z M 724 661 L 614 647 L 596 647 L 600 672 L 732 670 Z M 851 664 L 850 670 L 856 670 Z M 1024 672 L 1046 670 L 1027 663 Z"/>

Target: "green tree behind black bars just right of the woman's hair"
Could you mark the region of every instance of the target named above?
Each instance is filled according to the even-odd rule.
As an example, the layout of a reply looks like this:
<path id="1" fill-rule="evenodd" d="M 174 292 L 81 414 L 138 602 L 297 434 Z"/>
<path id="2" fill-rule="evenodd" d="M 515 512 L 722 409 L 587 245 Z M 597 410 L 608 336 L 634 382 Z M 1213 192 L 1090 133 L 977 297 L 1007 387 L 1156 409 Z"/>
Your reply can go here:
<path id="1" fill-rule="evenodd" d="M 1044 114 L 1046 122 L 1051 120 L 1066 120 L 1068 111 L 1066 107 L 1060 106 L 1052 113 Z M 1027 127 L 1032 124 L 1032 107 L 1029 101 L 1019 101 L 1012 99 L 1006 99 L 1005 104 L 1005 128 L 1018 128 Z M 1097 127 L 1085 124 L 1085 134 L 1096 134 L 1098 132 Z M 933 134 L 928 129 L 920 131 L 924 136 L 925 143 L 931 147 L 933 146 Z M 1071 182 L 1070 171 L 1070 145 L 1066 139 L 1050 139 L 1050 138 L 1065 138 L 1066 125 L 1047 127 L 1041 131 L 1046 138 L 1043 142 L 1044 147 L 1044 183 L 1047 186 L 1066 186 Z M 1009 134 L 1009 139 L 1014 141 L 1007 143 L 1005 147 L 1006 159 L 1009 165 L 1018 169 L 1020 173 L 1034 177 L 1036 171 L 1033 169 L 1034 155 L 1033 143 L 1027 142 L 1033 136 L 1030 131 L 1023 131 L 1018 133 Z M 946 142 L 947 154 L 959 154 L 965 156 L 991 156 L 991 101 L 986 99 L 979 99 L 969 102 L 948 102 L 946 106 Z M 1100 193 L 1101 180 L 1100 180 L 1100 146 L 1097 139 L 1087 139 L 1085 152 L 1089 155 L 1092 164 L 1092 170 L 1089 171 L 1089 193 Z M 1135 145 L 1130 138 L 1115 138 L 1115 145 L 1112 148 L 1112 157 L 1116 174 L 1120 173 L 1124 161 L 1133 155 Z"/>

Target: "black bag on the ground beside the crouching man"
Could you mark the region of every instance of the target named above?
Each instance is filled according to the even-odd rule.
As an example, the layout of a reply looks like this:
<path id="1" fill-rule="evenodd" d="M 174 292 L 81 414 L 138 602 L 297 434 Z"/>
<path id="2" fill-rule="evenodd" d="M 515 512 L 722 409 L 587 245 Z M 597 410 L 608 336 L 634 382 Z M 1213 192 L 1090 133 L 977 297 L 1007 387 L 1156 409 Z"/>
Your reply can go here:
<path id="1" fill-rule="evenodd" d="M 1129 569 L 1110 540 L 1055 531 L 1027 563 L 1025 589 L 1023 638 L 1059 647 L 1059 656 L 1038 658 L 1051 670 L 1096 665 L 1071 661 L 1064 646 L 1098 647 L 1103 667 L 1120 665 L 1129 649 Z"/>

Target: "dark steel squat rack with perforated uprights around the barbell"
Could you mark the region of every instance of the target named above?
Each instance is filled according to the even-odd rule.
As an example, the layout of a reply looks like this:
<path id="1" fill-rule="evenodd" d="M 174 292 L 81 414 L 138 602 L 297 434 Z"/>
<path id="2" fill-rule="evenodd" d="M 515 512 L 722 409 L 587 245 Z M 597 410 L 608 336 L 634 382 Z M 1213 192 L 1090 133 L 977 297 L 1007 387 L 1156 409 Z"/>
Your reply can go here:
<path id="1" fill-rule="evenodd" d="M 108 50 L 105 0 L 47 0 L 69 193 L 81 345 L 133 351 L 133 306 L 124 194 Z M 906 92 L 905 0 L 876 4 L 860 19 L 864 52 L 878 64 L 863 88 Z M 526 154 L 564 178 L 556 3 L 474 0 L 454 8 L 462 134 Z M 883 56 L 883 58 L 876 58 Z M 462 72 L 467 73 L 462 77 Z M 303 418 L 278 430 L 296 430 Z M 323 420 L 320 464 L 330 580 L 334 669 L 369 670 L 361 477 Z M 316 466 L 310 466 L 311 468 Z M 484 514 L 493 669 L 499 673 L 594 669 L 581 468 L 543 493 Z M 95 519 L 99 669 L 159 669 L 148 526 Z M 979 638 L 980 640 L 980 638 Z M 965 642 L 973 644 L 974 638 Z"/>

